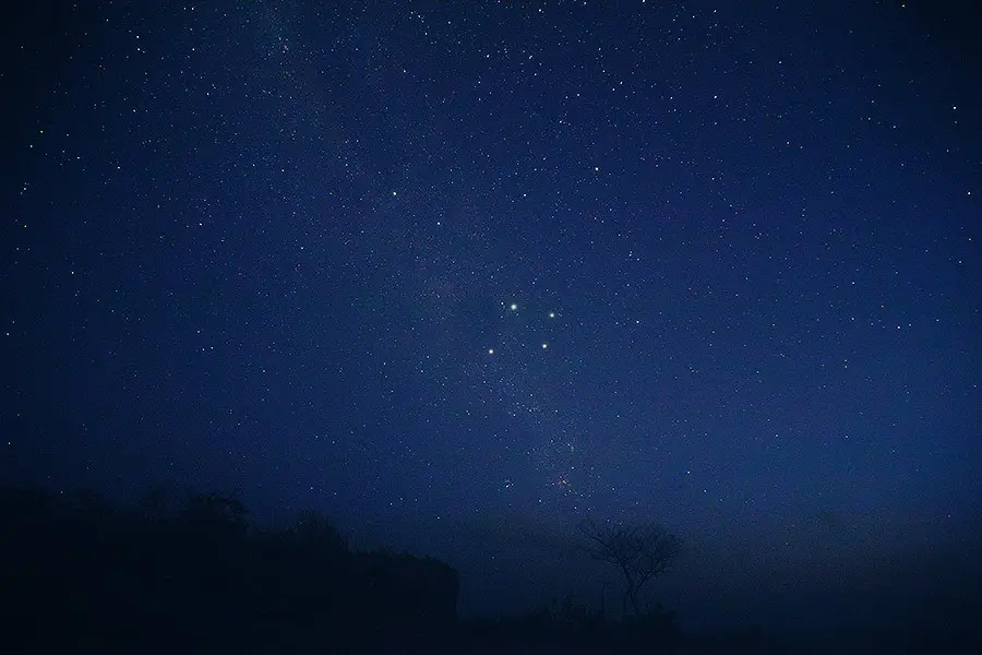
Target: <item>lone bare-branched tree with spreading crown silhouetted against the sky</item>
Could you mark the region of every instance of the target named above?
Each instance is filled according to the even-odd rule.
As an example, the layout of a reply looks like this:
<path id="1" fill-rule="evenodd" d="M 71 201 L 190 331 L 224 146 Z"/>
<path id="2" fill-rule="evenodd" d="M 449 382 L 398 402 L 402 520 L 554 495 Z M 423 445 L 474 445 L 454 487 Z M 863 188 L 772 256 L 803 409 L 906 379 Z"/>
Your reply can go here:
<path id="1" fill-rule="evenodd" d="M 579 532 L 587 538 L 587 553 L 614 564 L 624 576 L 622 616 L 627 617 L 630 606 L 633 616 L 640 617 L 642 587 L 668 570 L 682 550 L 682 540 L 654 522 L 597 525 L 591 519 L 585 519 Z"/>

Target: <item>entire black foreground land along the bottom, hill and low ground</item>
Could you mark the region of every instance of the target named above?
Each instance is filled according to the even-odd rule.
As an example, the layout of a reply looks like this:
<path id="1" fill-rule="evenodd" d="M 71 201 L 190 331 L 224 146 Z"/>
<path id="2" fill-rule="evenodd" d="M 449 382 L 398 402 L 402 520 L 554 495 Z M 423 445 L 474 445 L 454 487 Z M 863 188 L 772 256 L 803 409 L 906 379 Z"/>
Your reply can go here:
<path id="1" fill-rule="evenodd" d="M 235 498 L 0 488 L 4 653 L 982 653 L 974 626 L 684 634 L 660 607 L 604 620 L 572 597 L 517 618 L 463 621 L 457 572 L 359 552 L 326 519 L 259 529 Z"/>

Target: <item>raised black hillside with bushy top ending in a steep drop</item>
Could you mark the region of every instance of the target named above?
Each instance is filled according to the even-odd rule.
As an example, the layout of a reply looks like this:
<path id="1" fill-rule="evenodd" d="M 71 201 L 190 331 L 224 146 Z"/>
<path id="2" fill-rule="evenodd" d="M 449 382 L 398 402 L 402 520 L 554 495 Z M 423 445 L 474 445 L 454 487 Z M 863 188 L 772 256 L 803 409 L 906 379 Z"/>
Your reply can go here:
<path id="1" fill-rule="evenodd" d="M 118 511 L 16 488 L 0 512 L 3 639 L 25 652 L 431 653 L 457 627 L 455 570 L 352 552 L 315 514 L 259 531 L 215 493 Z"/>

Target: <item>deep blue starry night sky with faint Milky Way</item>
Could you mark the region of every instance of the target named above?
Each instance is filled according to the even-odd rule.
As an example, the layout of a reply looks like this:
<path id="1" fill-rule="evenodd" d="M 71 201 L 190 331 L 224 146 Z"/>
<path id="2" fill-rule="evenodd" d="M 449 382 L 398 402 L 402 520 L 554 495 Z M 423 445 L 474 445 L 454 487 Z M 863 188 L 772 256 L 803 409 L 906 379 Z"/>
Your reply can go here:
<path id="1" fill-rule="evenodd" d="M 692 623 L 982 571 L 967 10 L 342 4 L 4 19 L 2 479 L 319 509 L 465 614 L 592 603 L 585 515 Z"/>

